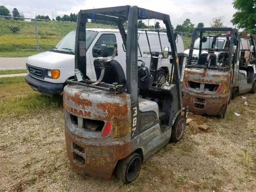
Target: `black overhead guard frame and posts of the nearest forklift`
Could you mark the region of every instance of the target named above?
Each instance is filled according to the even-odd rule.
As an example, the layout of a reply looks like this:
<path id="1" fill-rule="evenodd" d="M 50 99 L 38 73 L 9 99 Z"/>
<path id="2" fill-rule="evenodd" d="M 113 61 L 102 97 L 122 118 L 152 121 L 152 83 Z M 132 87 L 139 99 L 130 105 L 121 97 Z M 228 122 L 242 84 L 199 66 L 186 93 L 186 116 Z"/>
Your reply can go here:
<path id="1" fill-rule="evenodd" d="M 178 93 L 178 106 L 182 109 L 182 94 L 180 81 L 180 67 L 175 44 L 174 33 L 171 28 L 170 16 L 154 12 L 137 6 L 117 6 L 80 10 L 78 13 L 76 41 L 75 41 L 75 69 L 79 69 L 86 78 L 86 22 L 88 19 L 115 22 L 118 26 L 124 48 L 126 49 L 126 93 L 131 95 L 131 104 L 138 103 L 138 20 L 158 19 L 166 26 L 168 41 L 172 51 L 174 66 L 174 81 Z M 123 23 L 128 21 L 127 34 Z M 171 78 L 170 78 L 171 79 Z M 172 83 L 169 80 L 169 83 Z"/>

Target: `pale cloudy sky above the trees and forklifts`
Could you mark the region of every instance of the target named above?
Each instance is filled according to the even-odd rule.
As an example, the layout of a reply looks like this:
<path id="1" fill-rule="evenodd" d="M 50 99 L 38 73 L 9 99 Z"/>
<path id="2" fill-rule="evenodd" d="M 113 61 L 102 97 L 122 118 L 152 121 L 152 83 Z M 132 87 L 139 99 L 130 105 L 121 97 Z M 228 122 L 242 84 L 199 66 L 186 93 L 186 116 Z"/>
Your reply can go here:
<path id="1" fill-rule="evenodd" d="M 195 25 L 203 22 L 205 27 L 209 27 L 212 18 L 219 16 L 224 17 L 224 26 L 233 27 L 230 20 L 236 10 L 232 2 L 233 0 L 0 0 L 0 5 L 6 6 L 9 10 L 17 8 L 27 18 L 48 14 L 52 19 L 52 14 L 55 18 L 58 15 L 69 15 L 70 12 L 77 13 L 81 9 L 129 4 L 169 14 L 174 27 L 182 24 L 186 18 Z M 149 24 L 153 25 L 154 20 L 150 20 Z"/>

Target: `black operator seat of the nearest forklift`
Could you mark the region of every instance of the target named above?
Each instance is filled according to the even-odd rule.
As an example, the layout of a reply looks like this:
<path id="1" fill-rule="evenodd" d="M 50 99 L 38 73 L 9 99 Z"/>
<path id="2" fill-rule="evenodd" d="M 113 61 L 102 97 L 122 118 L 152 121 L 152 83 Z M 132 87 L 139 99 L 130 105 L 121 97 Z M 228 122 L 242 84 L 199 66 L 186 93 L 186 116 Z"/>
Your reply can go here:
<path id="1" fill-rule="evenodd" d="M 104 77 L 101 82 L 105 82 L 108 84 L 118 83 L 119 85 L 123 85 L 123 90 L 126 88 L 126 78 L 124 74 L 124 70 L 119 62 L 116 60 L 112 60 L 110 62 L 102 61 L 105 66 Z M 94 69 L 96 73 L 97 80 L 100 78 L 101 74 L 101 65 L 100 60 L 96 59 L 93 62 Z"/>

